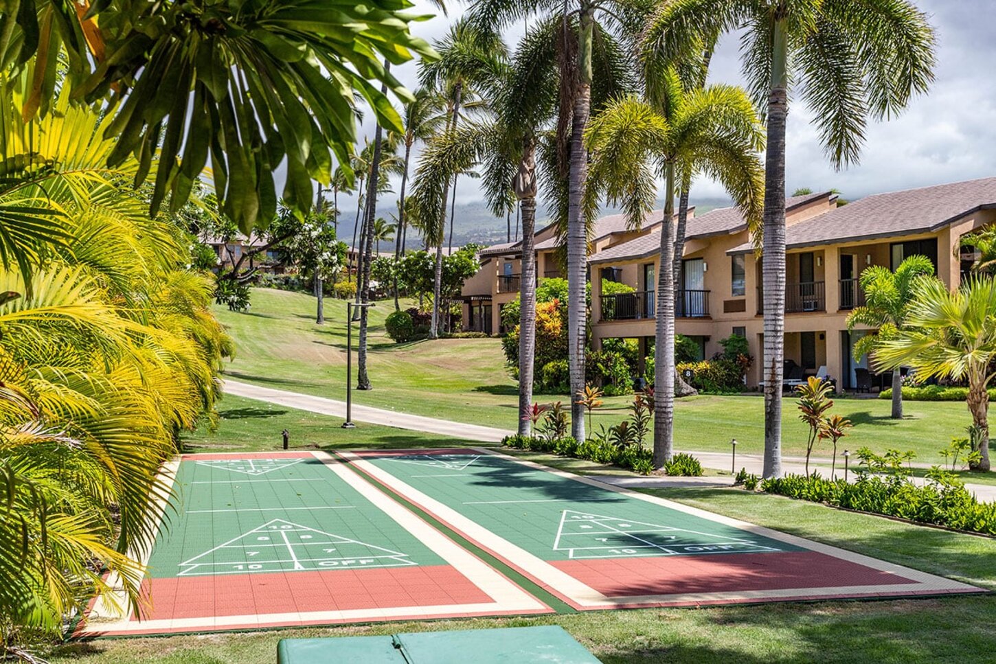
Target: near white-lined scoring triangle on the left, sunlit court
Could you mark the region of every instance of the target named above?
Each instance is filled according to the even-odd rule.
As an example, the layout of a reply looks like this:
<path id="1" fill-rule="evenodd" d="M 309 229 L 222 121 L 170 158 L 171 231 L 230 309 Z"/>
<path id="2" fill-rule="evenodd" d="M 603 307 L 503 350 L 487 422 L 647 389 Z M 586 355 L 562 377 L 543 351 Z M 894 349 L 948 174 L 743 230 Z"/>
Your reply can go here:
<path id="1" fill-rule="evenodd" d="M 407 553 L 376 547 L 274 519 L 180 563 L 177 576 L 400 567 L 416 564 Z"/>

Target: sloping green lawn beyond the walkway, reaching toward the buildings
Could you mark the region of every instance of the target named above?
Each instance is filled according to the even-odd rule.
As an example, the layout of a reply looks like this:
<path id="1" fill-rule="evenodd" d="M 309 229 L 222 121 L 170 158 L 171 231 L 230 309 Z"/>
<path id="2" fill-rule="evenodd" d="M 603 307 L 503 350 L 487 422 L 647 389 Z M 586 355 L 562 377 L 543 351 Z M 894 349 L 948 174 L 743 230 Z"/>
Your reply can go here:
<path id="1" fill-rule="evenodd" d="M 238 355 L 226 368 L 234 379 L 271 387 L 345 398 L 346 306 L 326 300 L 325 326 L 314 323 L 314 298 L 299 293 L 257 289 L 248 314 L 217 308 L 218 317 L 237 343 Z M 359 403 L 403 409 L 506 429 L 516 426 L 517 392 L 505 369 L 497 338 L 439 339 L 395 344 L 383 331 L 390 302 L 371 310 L 369 370 L 373 390 L 354 392 Z M 356 343 L 356 338 L 354 338 Z M 354 358 L 355 361 L 355 358 Z M 537 395 L 540 401 L 567 396 Z M 626 414 L 627 397 L 606 399 L 594 418 L 594 428 L 617 424 Z M 678 449 L 728 451 L 736 438 L 741 453 L 760 454 L 764 443 L 761 397 L 698 396 L 678 400 L 674 433 Z M 889 419 L 889 402 L 882 399 L 838 399 L 833 412 L 849 417 L 856 428 L 842 446 L 911 449 L 917 461 L 939 463 L 938 450 L 952 436 L 964 435 L 969 418 L 964 404 L 907 402 L 905 419 Z M 783 450 L 805 454 L 805 425 L 792 398 L 785 400 Z M 279 429 L 276 433 L 279 433 Z M 827 451 L 817 448 L 817 455 Z"/>

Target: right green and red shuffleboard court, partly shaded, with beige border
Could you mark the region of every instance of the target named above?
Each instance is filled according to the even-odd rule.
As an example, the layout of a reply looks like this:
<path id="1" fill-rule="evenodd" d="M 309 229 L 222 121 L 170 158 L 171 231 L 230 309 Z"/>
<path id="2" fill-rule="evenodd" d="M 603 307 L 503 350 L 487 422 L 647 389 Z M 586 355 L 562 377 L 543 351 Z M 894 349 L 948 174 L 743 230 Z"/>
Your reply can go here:
<path id="1" fill-rule="evenodd" d="M 488 450 L 341 456 L 578 609 L 979 591 Z"/>

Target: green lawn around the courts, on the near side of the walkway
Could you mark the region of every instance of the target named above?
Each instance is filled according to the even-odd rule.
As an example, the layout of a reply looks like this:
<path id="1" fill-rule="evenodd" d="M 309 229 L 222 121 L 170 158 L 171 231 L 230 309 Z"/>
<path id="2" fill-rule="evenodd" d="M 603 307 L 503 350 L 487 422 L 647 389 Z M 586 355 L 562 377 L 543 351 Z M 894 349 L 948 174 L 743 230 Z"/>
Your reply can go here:
<path id="1" fill-rule="evenodd" d="M 336 449 L 365 445 L 437 444 L 436 437 L 226 400 L 216 433 L 187 436 L 191 450 L 266 450 L 284 427 L 300 431 L 292 443 Z M 296 434 L 297 437 L 297 434 Z M 459 444 L 446 439 L 445 444 Z M 590 462 L 524 454 L 575 472 Z M 996 590 L 996 540 L 833 510 L 739 489 L 649 492 L 783 532 L 867 553 Z M 826 601 L 704 609 L 599 611 L 530 618 L 392 622 L 236 634 L 105 639 L 47 653 L 50 661 L 81 664 L 272 664 L 280 638 L 385 634 L 559 624 L 607 664 L 639 662 L 968 662 L 988 661 L 996 648 L 996 595 L 883 601 Z"/>

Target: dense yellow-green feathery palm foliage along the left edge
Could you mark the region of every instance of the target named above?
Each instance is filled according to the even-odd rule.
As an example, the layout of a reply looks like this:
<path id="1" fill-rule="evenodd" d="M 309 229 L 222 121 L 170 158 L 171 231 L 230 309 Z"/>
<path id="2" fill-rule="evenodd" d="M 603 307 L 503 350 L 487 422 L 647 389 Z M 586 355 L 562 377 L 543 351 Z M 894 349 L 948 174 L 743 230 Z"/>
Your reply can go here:
<path id="1" fill-rule="evenodd" d="M 168 495 L 160 466 L 178 431 L 210 416 L 231 351 L 180 225 L 149 219 L 129 191 L 141 163 L 107 165 L 113 116 L 70 107 L 64 90 L 25 122 L 24 102 L 15 91 L 0 106 L 6 163 L 25 164 L 0 208 L 47 210 L 72 241 L 38 236 L 33 273 L 0 269 L 4 645 L 59 630 L 95 593 L 140 613 L 139 560 Z"/>

